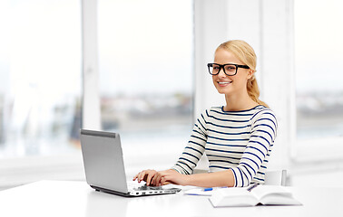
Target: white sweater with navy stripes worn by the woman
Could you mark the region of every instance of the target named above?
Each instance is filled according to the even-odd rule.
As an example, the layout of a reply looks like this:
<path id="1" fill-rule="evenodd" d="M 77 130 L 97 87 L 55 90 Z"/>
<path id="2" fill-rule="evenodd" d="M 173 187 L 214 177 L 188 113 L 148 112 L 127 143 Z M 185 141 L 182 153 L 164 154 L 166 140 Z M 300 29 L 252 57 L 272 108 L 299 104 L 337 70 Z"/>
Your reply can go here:
<path id="1" fill-rule="evenodd" d="M 191 175 L 206 154 L 210 172 L 230 169 L 235 187 L 263 184 L 277 127 L 274 113 L 264 106 L 241 111 L 207 109 L 197 119 L 191 139 L 172 169 Z"/>

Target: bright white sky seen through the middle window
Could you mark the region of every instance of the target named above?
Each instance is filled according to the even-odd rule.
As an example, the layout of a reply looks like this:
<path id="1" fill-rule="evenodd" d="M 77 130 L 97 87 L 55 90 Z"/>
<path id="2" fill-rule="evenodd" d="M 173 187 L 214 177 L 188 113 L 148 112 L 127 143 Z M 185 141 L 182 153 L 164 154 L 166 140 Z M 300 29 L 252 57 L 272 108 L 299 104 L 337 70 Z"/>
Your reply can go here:
<path id="1" fill-rule="evenodd" d="M 190 0 L 100 0 L 98 16 L 103 94 L 191 93 Z"/>

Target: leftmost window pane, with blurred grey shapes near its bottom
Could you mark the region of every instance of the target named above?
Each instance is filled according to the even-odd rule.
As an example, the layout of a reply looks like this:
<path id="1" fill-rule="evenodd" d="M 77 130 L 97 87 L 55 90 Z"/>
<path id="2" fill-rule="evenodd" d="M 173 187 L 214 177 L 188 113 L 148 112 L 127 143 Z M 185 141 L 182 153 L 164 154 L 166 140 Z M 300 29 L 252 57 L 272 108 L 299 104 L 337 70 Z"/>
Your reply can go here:
<path id="1" fill-rule="evenodd" d="M 80 1 L 6 0 L 0 8 L 0 156 L 78 150 Z"/>

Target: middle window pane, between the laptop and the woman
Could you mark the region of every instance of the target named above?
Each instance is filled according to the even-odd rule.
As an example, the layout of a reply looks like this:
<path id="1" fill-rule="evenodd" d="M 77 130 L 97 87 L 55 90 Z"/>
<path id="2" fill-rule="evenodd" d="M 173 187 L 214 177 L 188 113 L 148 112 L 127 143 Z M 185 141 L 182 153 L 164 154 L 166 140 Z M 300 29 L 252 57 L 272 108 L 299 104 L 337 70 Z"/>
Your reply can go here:
<path id="1" fill-rule="evenodd" d="M 120 132 L 122 145 L 136 153 L 142 146 L 163 148 L 156 153 L 185 146 L 192 123 L 191 1 L 100 0 L 98 10 L 103 129 Z"/>

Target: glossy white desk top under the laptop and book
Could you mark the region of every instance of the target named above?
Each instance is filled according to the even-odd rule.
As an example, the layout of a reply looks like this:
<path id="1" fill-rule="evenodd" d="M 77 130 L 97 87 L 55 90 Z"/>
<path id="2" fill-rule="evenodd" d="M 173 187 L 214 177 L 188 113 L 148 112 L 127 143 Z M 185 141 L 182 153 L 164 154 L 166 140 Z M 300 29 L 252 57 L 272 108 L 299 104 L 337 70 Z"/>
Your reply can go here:
<path id="1" fill-rule="evenodd" d="M 84 182 L 41 181 L 0 192 L 0 216 L 343 216 L 343 188 L 291 188 L 302 206 L 213 208 L 207 196 L 123 198 Z"/>

